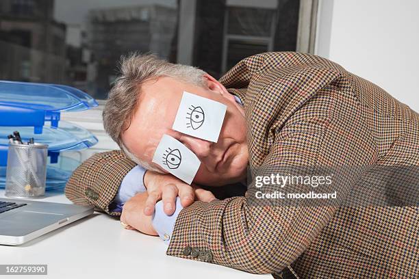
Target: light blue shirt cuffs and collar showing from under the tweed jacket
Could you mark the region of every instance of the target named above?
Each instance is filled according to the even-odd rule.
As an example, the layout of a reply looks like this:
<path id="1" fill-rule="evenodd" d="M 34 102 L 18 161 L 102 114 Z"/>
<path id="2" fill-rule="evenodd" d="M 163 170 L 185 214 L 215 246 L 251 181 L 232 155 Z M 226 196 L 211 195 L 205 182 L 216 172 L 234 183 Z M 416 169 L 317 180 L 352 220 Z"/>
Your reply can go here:
<path id="1" fill-rule="evenodd" d="M 236 102 L 242 105 L 242 101 L 238 96 L 234 95 Z M 135 196 L 138 193 L 147 191 L 144 186 L 144 174 L 147 170 L 142 168 L 140 165 L 137 165 L 132 170 L 130 170 L 127 175 L 124 177 L 118 193 L 114 199 L 115 210 L 122 211 L 122 207 L 129 200 L 129 198 Z M 160 200 L 155 204 L 155 211 L 153 214 L 152 225 L 154 230 L 157 232 L 159 237 L 168 245 L 170 239 L 172 238 L 173 228 L 175 228 L 176 218 L 179 215 L 180 211 L 183 209 L 179 197 L 176 199 L 176 210 L 172 215 L 166 215 L 163 209 L 163 201 Z"/>

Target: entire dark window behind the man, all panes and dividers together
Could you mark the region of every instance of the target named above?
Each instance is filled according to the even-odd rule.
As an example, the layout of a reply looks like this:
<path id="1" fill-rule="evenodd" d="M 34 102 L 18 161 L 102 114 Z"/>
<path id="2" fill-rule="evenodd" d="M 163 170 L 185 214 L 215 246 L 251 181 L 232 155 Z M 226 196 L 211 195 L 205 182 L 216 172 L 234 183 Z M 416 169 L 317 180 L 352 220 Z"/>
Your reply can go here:
<path id="1" fill-rule="evenodd" d="M 294 0 L 2 0 L 0 79 L 104 99 L 134 51 L 219 78 L 244 57 L 295 51 L 298 22 Z"/>

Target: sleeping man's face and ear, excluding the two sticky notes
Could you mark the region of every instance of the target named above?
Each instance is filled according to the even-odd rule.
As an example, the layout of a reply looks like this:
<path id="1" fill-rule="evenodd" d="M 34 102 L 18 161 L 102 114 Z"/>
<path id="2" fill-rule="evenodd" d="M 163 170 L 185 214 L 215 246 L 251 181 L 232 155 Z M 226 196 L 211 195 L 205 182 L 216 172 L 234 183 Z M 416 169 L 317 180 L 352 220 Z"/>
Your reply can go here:
<path id="1" fill-rule="evenodd" d="M 162 170 L 151 161 L 162 135 L 170 135 L 201 161 L 194 183 L 211 186 L 236 183 L 246 177 L 249 162 L 244 111 L 223 85 L 210 76 L 205 79 L 207 88 L 170 77 L 143 83 L 138 108 L 122 139 L 136 157 Z M 227 105 L 218 142 L 208 142 L 172 129 L 183 91 Z"/>

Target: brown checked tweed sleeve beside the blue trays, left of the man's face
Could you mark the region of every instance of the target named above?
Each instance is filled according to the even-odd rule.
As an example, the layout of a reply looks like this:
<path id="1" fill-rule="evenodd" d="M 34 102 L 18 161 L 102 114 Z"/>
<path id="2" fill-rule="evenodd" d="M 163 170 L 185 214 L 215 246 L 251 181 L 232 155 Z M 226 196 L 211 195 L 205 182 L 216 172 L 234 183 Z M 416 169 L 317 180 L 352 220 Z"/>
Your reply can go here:
<path id="1" fill-rule="evenodd" d="M 98 211 L 120 215 L 111 212 L 109 205 L 123 178 L 135 166 L 136 163 L 120 150 L 97 153 L 73 172 L 66 184 L 66 197 L 75 204 L 90 204 Z"/>

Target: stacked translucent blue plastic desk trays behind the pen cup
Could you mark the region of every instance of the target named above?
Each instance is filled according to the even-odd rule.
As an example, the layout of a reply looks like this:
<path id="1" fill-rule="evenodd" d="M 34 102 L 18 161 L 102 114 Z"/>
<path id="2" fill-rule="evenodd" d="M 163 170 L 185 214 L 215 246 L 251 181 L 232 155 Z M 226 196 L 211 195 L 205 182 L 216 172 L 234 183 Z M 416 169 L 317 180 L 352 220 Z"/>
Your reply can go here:
<path id="1" fill-rule="evenodd" d="M 19 131 L 23 142 L 48 144 L 47 190 L 62 189 L 79 164 L 66 152 L 97 144 L 84 128 L 60 120 L 62 111 L 83 111 L 97 102 L 81 90 L 66 85 L 0 81 L 0 188 L 5 187 L 8 135 Z"/>

